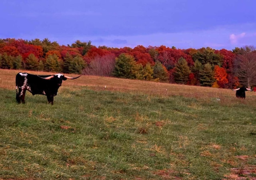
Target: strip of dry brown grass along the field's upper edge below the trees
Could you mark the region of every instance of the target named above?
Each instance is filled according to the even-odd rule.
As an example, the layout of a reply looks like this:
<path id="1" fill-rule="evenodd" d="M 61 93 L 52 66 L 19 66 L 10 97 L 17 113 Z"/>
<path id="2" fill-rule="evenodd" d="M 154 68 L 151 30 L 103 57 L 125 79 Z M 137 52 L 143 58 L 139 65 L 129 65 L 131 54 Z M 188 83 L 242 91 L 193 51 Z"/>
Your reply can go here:
<path id="1" fill-rule="evenodd" d="M 15 89 L 15 75 L 20 70 L 4 70 L 0 69 L 0 88 Z M 54 74 L 49 72 L 22 71 L 31 74 Z M 76 74 L 69 76 L 75 77 Z M 234 98 L 235 92 L 229 89 L 208 88 L 200 86 L 187 86 L 179 84 L 168 84 L 159 82 L 148 82 L 141 80 L 128 80 L 121 78 L 110 78 L 100 76 L 82 76 L 76 80 L 66 80 L 63 86 L 70 90 L 81 88 L 89 88 L 92 90 L 109 90 L 129 93 L 143 93 L 153 96 L 185 96 L 189 98 L 201 99 L 205 97 L 218 98 L 221 101 Z M 106 86 L 106 88 L 105 88 Z M 61 89 L 60 89 L 61 90 Z M 249 92 L 250 96 L 255 96 L 253 92 Z M 248 93 L 247 93 L 248 94 Z M 247 95 L 248 96 L 248 95 Z"/>

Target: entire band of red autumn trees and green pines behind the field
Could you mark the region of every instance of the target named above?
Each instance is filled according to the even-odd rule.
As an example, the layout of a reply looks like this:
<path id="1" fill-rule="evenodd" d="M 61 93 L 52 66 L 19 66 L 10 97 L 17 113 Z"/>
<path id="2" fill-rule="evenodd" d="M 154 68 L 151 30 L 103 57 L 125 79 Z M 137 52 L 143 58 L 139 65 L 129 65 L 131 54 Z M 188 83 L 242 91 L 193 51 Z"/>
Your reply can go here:
<path id="1" fill-rule="evenodd" d="M 256 85 L 254 46 L 232 51 L 93 46 L 77 40 L 60 46 L 43 40 L 0 39 L 0 68 L 62 72 L 169 82 L 215 88 Z"/>

